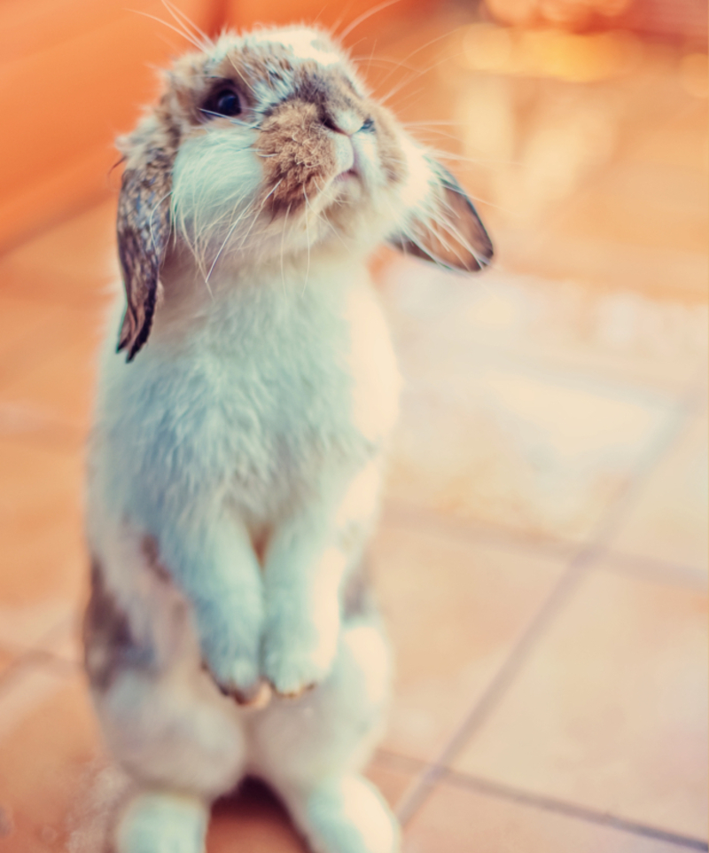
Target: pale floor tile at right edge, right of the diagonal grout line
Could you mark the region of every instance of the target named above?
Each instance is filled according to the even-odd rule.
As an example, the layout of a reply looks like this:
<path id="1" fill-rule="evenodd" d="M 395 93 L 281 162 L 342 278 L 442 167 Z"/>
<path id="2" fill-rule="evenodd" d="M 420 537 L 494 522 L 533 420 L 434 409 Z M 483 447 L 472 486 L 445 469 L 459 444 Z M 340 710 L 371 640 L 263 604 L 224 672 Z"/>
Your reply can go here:
<path id="1" fill-rule="evenodd" d="M 691 419 L 659 461 L 611 547 L 652 560 L 709 568 L 709 475 L 706 412 Z"/>

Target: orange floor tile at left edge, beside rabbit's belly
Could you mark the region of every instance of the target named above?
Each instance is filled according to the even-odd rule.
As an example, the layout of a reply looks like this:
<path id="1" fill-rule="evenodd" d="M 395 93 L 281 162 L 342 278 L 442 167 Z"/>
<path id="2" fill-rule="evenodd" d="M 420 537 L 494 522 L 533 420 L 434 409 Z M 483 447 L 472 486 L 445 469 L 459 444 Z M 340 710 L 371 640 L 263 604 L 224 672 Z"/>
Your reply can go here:
<path id="1" fill-rule="evenodd" d="M 46 612 L 50 629 L 58 614 L 75 608 L 88 578 L 82 458 L 0 440 L 0 470 L 0 605 L 19 608 L 18 623 L 26 625 Z"/>

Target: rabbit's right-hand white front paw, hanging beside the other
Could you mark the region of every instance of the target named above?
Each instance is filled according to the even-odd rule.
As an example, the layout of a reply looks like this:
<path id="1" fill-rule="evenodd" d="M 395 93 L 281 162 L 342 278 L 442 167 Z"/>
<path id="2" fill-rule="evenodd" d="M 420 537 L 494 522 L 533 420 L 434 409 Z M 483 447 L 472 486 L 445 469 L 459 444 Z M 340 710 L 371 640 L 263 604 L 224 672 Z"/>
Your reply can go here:
<path id="1" fill-rule="evenodd" d="M 319 625 L 272 622 L 264 637 L 264 676 L 281 696 L 300 696 L 330 673 L 338 636 L 338 616 Z"/>

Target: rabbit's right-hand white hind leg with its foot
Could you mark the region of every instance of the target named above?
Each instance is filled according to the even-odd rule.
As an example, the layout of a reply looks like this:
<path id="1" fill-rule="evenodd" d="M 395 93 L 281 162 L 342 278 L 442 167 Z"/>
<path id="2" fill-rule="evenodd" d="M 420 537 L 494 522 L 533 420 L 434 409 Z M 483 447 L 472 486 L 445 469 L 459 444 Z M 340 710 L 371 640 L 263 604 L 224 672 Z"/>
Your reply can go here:
<path id="1" fill-rule="evenodd" d="M 331 675 L 250 724 L 254 772 L 283 799 L 316 853 L 396 853 L 400 831 L 360 773 L 381 732 L 389 650 L 376 618 L 346 623 Z"/>

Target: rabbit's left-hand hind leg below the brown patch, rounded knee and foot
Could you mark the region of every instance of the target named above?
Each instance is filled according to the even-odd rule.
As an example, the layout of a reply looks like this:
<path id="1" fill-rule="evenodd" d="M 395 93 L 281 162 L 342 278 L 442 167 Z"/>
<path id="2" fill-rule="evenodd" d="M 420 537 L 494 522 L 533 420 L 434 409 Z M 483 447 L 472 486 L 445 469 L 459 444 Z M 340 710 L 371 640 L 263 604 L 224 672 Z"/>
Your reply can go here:
<path id="1" fill-rule="evenodd" d="M 233 700 L 193 676 L 205 683 L 129 669 L 95 696 L 105 740 L 137 783 L 115 823 L 116 853 L 202 853 L 211 802 L 243 775 Z"/>

